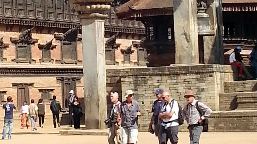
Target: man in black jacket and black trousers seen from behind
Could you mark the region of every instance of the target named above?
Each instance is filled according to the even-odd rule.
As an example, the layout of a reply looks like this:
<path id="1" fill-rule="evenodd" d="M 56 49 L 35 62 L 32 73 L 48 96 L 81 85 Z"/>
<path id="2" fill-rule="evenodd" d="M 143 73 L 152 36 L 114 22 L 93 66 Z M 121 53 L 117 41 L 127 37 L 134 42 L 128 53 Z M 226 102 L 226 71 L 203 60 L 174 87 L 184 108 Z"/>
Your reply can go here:
<path id="1" fill-rule="evenodd" d="M 59 113 L 61 113 L 61 105 L 60 105 L 59 101 L 56 100 L 55 95 L 53 96 L 53 101 L 50 104 L 50 109 L 53 113 L 54 128 L 56 128 L 55 118 L 57 119 L 58 127 L 60 127 Z"/>

